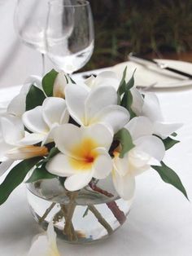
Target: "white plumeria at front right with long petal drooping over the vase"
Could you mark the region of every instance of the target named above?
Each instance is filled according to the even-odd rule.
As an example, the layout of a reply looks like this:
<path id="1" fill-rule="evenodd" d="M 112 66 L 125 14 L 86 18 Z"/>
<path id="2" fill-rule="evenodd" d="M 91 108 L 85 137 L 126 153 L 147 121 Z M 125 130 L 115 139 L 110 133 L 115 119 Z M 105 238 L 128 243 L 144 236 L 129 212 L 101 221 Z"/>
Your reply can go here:
<path id="1" fill-rule="evenodd" d="M 117 148 L 114 152 L 112 178 L 114 186 L 124 200 L 133 197 L 135 176 L 149 170 L 152 164 L 160 165 L 165 148 L 161 139 L 151 135 L 151 121 L 146 117 L 135 117 L 125 126 L 129 130 L 135 145 L 120 158 Z"/>

